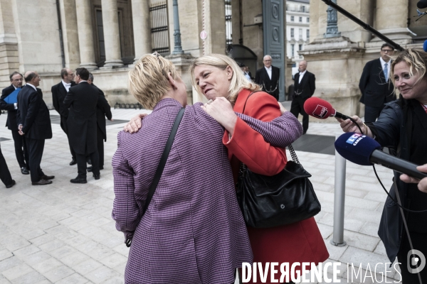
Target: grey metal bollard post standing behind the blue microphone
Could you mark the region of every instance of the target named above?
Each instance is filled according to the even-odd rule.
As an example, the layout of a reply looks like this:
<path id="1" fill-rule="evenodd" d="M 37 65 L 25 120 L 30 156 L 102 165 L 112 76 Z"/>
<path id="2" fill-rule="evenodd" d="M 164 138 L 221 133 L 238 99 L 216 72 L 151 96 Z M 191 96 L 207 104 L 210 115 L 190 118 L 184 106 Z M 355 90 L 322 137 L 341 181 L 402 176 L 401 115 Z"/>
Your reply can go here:
<path id="1" fill-rule="evenodd" d="M 335 134 L 335 140 L 342 133 Z M 344 241 L 344 202 L 345 202 L 345 159 L 335 151 L 335 192 L 334 192 L 334 234 L 331 244 L 345 246 Z"/>

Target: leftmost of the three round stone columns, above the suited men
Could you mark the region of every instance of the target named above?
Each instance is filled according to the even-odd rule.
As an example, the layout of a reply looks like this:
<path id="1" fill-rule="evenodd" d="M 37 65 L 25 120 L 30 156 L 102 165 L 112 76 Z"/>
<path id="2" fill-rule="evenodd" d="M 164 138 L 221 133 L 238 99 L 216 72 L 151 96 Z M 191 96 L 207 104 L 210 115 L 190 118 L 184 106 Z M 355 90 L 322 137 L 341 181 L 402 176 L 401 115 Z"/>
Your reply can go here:
<path id="1" fill-rule="evenodd" d="M 75 11 L 77 16 L 78 45 L 80 48 L 80 67 L 93 69 L 96 67 L 96 64 L 90 1 L 75 0 Z"/>

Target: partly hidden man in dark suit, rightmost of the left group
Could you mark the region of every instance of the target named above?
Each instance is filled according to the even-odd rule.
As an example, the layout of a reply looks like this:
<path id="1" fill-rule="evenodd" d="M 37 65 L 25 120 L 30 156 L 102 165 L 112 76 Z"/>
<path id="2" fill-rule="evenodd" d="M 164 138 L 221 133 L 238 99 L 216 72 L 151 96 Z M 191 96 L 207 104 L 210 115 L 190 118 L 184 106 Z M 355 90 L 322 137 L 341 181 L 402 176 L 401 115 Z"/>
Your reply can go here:
<path id="1" fill-rule="evenodd" d="M 107 142 L 107 128 L 105 125 L 105 116 L 107 119 L 112 121 L 111 107 L 108 104 L 107 99 L 105 99 L 104 92 L 93 84 L 93 75 L 89 74 L 88 83 L 93 87 L 98 89 L 98 100 L 96 104 L 96 141 L 97 141 L 97 150 L 100 157 L 100 170 L 104 169 L 104 141 Z M 92 167 L 88 168 L 88 172 L 92 172 Z"/>

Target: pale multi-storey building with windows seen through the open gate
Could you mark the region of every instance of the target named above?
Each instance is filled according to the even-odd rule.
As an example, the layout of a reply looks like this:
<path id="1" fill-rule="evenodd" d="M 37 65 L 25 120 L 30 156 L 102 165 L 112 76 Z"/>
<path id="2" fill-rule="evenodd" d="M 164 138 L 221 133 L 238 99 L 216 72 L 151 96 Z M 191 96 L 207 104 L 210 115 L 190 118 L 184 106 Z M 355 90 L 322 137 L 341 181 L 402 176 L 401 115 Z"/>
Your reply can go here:
<path id="1" fill-rule="evenodd" d="M 298 53 L 310 42 L 310 0 L 286 1 L 286 56 L 295 62 L 292 75 L 298 70 L 298 62 L 304 59 Z"/>

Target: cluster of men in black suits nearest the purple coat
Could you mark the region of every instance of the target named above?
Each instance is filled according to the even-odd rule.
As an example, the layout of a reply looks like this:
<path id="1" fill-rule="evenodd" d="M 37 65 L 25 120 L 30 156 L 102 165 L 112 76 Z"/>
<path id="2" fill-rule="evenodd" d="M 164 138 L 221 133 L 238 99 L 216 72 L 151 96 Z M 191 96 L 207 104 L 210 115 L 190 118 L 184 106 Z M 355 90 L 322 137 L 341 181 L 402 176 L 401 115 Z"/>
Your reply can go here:
<path id="1" fill-rule="evenodd" d="M 93 84 L 93 74 L 87 69 L 78 68 L 74 74 L 64 68 L 61 77 L 62 81 L 51 89 L 53 107 L 60 114 L 60 126 L 68 137 L 70 165 L 78 165 L 78 177 L 71 182 L 86 183 L 87 171 L 99 179 L 99 171 L 104 168 L 105 116 L 112 120 L 110 104 L 104 92 Z M 87 167 L 89 160 L 92 166 Z"/>

